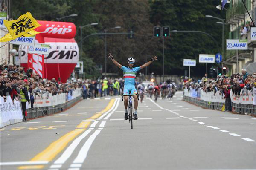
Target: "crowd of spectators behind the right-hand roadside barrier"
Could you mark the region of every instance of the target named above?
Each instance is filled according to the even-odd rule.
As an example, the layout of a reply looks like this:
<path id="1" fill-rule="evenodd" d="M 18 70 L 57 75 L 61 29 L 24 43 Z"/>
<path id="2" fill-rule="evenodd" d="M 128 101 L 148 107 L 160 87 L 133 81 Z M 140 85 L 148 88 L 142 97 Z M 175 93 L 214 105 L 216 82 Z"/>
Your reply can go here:
<path id="1" fill-rule="evenodd" d="M 239 98 L 241 90 L 253 90 L 256 88 L 256 73 L 252 75 L 246 72 L 246 69 L 242 69 L 241 74 L 236 73 L 231 75 L 218 75 L 216 78 L 203 77 L 201 80 L 189 79 L 185 77 L 183 79 L 183 88 L 204 90 L 204 92 L 214 92 L 214 95 L 218 92 L 225 99 L 225 110 L 232 111 L 230 92 L 236 98 Z"/>

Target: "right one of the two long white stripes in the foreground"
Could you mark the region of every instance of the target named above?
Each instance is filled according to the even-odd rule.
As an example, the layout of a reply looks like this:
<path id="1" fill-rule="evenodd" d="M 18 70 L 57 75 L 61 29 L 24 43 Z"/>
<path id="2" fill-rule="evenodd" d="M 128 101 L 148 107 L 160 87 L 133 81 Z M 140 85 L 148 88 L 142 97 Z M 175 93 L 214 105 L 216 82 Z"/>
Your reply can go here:
<path id="1" fill-rule="evenodd" d="M 97 135 L 99 135 L 101 129 L 96 130 L 88 140 L 84 143 L 83 147 L 79 151 L 78 155 L 76 156 L 75 160 L 73 161 L 73 164 L 82 164 L 87 157 L 87 153 L 90 149 L 90 146 L 93 144 L 94 139 L 96 138 Z"/>

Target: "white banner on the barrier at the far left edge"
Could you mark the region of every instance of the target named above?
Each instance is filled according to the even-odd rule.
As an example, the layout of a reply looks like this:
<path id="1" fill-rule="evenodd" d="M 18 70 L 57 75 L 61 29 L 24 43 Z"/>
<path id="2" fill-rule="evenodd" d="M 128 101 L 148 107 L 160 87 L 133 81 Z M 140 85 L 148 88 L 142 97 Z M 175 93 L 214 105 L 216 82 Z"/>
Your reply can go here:
<path id="1" fill-rule="evenodd" d="M 11 96 L 7 96 L 6 102 L 0 97 L 0 128 L 9 124 L 23 121 L 23 113 L 20 102 L 14 100 L 12 103 Z"/>

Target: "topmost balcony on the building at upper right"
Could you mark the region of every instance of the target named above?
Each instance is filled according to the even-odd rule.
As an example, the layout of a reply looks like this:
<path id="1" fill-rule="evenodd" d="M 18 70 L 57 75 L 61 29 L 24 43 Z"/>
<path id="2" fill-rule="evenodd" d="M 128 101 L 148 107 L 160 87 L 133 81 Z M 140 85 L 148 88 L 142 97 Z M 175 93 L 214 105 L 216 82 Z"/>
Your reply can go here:
<path id="1" fill-rule="evenodd" d="M 244 18 L 244 5 L 239 1 L 235 3 L 232 8 L 227 10 L 226 20 L 242 20 Z"/>

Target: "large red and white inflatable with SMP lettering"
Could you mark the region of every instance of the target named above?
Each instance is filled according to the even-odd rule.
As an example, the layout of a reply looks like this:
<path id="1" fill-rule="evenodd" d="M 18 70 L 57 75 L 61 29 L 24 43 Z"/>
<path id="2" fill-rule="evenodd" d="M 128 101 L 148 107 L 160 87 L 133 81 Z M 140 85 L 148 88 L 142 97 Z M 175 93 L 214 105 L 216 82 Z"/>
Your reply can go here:
<path id="1" fill-rule="evenodd" d="M 49 54 L 44 55 L 44 78 L 61 78 L 66 82 L 79 60 L 79 48 L 74 39 L 76 26 L 73 23 L 38 21 L 41 32 L 36 35 L 35 43 L 49 44 Z M 28 46 L 20 46 L 21 65 L 28 68 Z M 38 53 L 36 53 L 38 54 Z"/>

